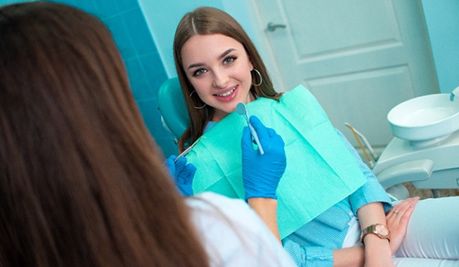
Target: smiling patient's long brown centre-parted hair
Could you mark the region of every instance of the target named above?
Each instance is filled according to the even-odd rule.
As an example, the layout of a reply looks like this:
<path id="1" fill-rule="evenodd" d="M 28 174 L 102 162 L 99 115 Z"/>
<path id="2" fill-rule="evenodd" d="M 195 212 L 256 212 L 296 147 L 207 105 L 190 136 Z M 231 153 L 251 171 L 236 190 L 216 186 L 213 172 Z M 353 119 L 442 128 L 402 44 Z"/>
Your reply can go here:
<path id="1" fill-rule="evenodd" d="M 189 119 L 191 121 L 190 126 L 185 130 L 180 141 L 178 143 L 178 149 L 180 152 L 185 150 L 187 144 L 194 143 L 203 133 L 204 127 L 207 125 L 207 122 L 213 115 L 213 108 L 206 106 L 206 108 L 196 109 L 194 106 L 202 106 L 203 102 L 198 100 L 198 102 L 193 102 L 198 99 L 196 93 L 193 94 L 195 98 L 191 98 L 190 94 L 195 89 L 183 69 L 182 62 L 182 47 L 185 45 L 187 40 L 191 36 L 195 35 L 208 35 L 208 34 L 223 34 L 234 38 L 239 43 L 242 43 L 246 49 L 246 53 L 255 69 L 257 69 L 263 82 L 261 85 L 256 86 L 252 85 L 250 91 L 259 95 L 260 97 L 268 97 L 274 100 L 279 100 L 281 93 L 277 93 L 274 90 L 268 71 L 261 60 L 257 48 L 252 43 L 252 40 L 248 37 L 244 29 L 237 23 L 232 16 L 218 10 L 216 8 L 202 7 L 197 8 L 193 12 L 189 12 L 183 16 L 180 23 L 178 23 L 176 34 L 174 36 L 174 60 L 176 65 L 176 71 L 178 75 L 178 80 L 180 80 L 180 86 L 182 87 L 183 97 L 185 97 L 185 103 L 187 104 L 187 110 L 189 114 Z M 203 47 L 202 49 L 206 49 Z M 253 84 L 259 84 L 260 78 L 255 71 L 252 71 L 252 81 Z"/>

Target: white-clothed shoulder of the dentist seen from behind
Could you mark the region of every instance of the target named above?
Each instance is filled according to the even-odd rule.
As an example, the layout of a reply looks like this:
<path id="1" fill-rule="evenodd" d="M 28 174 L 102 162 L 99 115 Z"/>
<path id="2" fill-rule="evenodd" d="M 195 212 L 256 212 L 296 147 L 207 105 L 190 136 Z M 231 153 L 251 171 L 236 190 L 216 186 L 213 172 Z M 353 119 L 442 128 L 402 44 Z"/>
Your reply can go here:
<path id="1" fill-rule="evenodd" d="M 188 198 L 187 205 L 213 266 L 290 266 L 292 263 L 244 200 L 204 192 Z"/>

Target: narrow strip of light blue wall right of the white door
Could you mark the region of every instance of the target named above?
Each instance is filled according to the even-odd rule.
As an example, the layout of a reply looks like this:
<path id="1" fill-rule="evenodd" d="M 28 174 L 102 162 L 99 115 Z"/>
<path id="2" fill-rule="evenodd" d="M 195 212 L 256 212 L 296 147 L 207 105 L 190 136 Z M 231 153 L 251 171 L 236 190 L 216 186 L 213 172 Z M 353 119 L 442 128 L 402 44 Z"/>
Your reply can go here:
<path id="1" fill-rule="evenodd" d="M 441 93 L 459 86 L 459 1 L 422 0 Z"/>

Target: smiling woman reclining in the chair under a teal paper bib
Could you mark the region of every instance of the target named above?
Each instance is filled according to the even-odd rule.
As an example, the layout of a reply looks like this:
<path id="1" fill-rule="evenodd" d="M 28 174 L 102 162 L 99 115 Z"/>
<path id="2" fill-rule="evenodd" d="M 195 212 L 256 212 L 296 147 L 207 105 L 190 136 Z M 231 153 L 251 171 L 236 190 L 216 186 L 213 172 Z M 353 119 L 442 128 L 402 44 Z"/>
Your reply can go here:
<path id="1" fill-rule="evenodd" d="M 245 199 L 272 233 L 278 231 L 299 266 L 457 266 L 459 213 L 450 210 L 459 198 L 392 203 L 314 95 L 303 86 L 276 94 L 255 47 L 230 15 L 214 8 L 186 14 L 176 30 L 174 58 L 191 120 L 180 149 L 203 132 L 206 137 L 187 155 L 196 166 L 195 193 Z M 239 102 L 250 102 L 257 123 L 285 141 L 285 172 L 269 186 L 266 181 L 274 181 L 270 174 L 283 159 L 260 170 L 255 166 L 265 154 L 244 161 L 253 149 L 238 150 L 240 133 L 250 135 L 245 121 L 231 113 Z M 204 108 L 195 108 L 202 103 Z M 250 169 L 260 179 L 247 187 L 244 170 Z M 257 189 L 257 195 L 248 189 Z M 263 199 L 279 205 L 266 202 L 259 209 L 255 202 Z"/>

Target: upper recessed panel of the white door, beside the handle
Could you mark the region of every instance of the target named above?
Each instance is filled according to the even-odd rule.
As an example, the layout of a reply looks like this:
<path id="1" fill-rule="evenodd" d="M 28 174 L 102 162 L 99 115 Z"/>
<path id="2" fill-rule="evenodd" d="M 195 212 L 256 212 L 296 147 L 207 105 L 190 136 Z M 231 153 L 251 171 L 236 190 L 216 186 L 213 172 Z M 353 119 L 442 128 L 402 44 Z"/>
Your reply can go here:
<path id="1" fill-rule="evenodd" d="M 297 58 L 302 60 L 358 54 L 362 49 L 384 49 L 400 43 L 394 10 L 384 1 L 353 1 L 351 9 L 347 1 L 336 1 L 334 5 L 327 1 L 295 2 L 282 7 Z M 346 16 L 340 16 L 340 10 L 347 10 Z M 297 23 L 298 18 L 301 23 Z"/>

